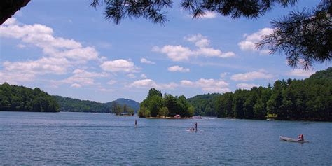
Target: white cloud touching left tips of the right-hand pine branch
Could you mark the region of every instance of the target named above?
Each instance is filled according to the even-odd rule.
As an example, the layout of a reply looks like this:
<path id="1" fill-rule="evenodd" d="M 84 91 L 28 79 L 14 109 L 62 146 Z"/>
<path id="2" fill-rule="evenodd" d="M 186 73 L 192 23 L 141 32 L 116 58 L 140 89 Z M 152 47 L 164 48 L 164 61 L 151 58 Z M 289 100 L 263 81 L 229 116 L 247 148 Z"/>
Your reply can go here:
<path id="1" fill-rule="evenodd" d="M 260 29 L 258 32 L 255 32 L 254 34 L 244 34 L 244 40 L 240 41 L 240 43 L 237 43 L 238 46 L 240 46 L 241 50 L 249 50 L 258 52 L 261 55 L 266 55 L 269 53 L 269 50 L 263 49 L 263 50 L 257 50 L 255 47 L 255 44 L 261 41 L 263 39 L 264 35 L 271 34 L 273 32 L 272 28 L 263 28 Z"/>

